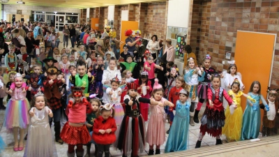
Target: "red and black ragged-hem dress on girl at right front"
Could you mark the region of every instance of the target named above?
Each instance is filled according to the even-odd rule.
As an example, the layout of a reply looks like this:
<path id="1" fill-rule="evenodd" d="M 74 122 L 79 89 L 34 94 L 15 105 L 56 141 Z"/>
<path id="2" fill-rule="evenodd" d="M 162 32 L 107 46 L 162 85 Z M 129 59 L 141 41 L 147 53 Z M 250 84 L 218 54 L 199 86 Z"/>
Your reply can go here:
<path id="1" fill-rule="evenodd" d="M 210 107 L 209 102 L 206 103 L 206 109 L 202 115 L 200 126 L 200 133 L 205 135 L 209 133 L 212 137 L 222 135 L 222 128 L 225 126 L 225 112 L 223 107 L 223 97 L 227 100 L 229 105 L 232 105 L 232 98 L 229 97 L 227 91 L 223 88 L 207 89 L 207 98 L 212 100 L 213 107 Z"/>

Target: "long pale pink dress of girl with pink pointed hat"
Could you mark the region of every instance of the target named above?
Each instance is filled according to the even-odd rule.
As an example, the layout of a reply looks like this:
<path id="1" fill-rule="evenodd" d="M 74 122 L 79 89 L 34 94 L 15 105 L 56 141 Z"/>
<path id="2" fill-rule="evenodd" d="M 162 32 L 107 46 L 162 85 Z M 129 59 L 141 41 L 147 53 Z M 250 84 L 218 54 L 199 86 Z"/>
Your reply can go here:
<path id="1" fill-rule="evenodd" d="M 151 98 L 153 99 L 153 98 Z M 165 103 L 167 99 L 162 98 L 161 103 Z M 159 105 L 150 106 L 151 116 L 146 132 L 146 142 L 149 145 L 162 145 L 165 142 L 165 110 Z"/>

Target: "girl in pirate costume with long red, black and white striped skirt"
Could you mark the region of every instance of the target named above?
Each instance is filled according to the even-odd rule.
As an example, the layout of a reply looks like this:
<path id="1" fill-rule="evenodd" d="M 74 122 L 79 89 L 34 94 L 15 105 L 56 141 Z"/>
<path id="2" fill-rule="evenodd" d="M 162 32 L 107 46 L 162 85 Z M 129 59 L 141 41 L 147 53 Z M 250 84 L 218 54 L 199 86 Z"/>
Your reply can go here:
<path id="1" fill-rule="evenodd" d="M 116 136 L 116 148 L 123 151 L 123 156 L 131 153 L 131 157 L 136 157 L 144 151 L 145 127 L 144 119 L 140 114 L 140 102 L 151 103 L 151 105 L 163 106 L 160 102 L 154 102 L 147 98 L 141 98 L 137 95 L 137 84 L 135 82 L 127 83 L 128 95 L 124 97 L 126 105 L 125 115 L 121 123 L 119 135 Z"/>

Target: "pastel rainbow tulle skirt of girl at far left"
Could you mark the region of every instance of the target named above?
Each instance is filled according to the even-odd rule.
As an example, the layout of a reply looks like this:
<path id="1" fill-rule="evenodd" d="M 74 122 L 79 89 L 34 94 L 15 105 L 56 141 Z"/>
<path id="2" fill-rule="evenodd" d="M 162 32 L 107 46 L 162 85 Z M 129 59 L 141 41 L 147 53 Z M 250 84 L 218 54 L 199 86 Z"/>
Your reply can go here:
<path id="1" fill-rule="evenodd" d="M 29 109 L 30 105 L 27 98 L 24 100 L 10 99 L 7 104 L 3 126 L 9 131 L 13 131 L 13 127 L 27 128 L 29 124 Z"/>

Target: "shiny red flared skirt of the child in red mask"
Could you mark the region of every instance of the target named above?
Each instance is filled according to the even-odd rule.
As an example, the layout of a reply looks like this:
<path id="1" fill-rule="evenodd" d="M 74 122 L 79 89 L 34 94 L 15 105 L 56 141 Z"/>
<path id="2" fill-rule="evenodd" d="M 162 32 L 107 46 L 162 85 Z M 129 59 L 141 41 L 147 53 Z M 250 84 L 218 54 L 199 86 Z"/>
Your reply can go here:
<path id="1" fill-rule="evenodd" d="M 86 125 L 80 127 L 70 126 L 67 122 L 61 130 L 61 139 L 68 144 L 87 144 L 91 141 Z"/>

